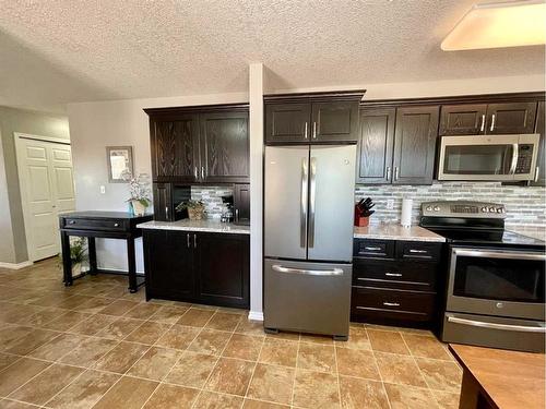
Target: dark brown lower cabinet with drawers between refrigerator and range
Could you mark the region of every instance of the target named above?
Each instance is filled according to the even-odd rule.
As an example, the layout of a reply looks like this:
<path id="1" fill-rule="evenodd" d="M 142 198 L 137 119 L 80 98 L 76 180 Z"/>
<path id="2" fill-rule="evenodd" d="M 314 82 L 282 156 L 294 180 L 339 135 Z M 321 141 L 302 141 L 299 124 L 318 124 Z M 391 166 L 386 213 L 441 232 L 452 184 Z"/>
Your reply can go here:
<path id="1" fill-rule="evenodd" d="M 354 249 L 352 321 L 436 326 L 442 243 L 355 239 Z"/>

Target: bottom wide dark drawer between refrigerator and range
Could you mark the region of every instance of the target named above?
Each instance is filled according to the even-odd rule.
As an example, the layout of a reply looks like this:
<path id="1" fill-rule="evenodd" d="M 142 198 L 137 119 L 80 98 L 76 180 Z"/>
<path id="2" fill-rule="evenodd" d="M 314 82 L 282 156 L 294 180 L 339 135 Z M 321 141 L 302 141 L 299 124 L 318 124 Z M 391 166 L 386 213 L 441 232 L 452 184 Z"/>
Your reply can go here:
<path id="1" fill-rule="evenodd" d="M 435 298 L 429 292 L 353 287 L 351 311 L 354 315 L 427 321 L 434 313 Z"/>

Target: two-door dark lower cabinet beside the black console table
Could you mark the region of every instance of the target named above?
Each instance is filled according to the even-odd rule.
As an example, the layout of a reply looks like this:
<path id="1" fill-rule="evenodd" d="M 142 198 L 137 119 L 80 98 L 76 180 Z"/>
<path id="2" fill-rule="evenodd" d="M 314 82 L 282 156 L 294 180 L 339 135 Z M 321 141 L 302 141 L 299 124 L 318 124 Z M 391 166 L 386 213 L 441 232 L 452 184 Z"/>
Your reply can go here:
<path id="1" fill-rule="evenodd" d="M 146 300 L 248 308 L 248 234 L 143 231 Z"/>

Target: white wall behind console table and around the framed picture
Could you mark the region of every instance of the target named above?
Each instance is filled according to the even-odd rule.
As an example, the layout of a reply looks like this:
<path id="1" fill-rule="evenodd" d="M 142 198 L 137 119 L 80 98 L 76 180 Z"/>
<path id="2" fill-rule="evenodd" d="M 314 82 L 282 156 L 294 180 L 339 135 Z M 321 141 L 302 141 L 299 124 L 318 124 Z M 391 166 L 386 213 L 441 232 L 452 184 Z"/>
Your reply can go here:
<path id="1" fill-rule="evenodd" d="M 214 94 L 81 103 L 68 106 L 78 210 L 127 210 L 124 183 L 108 183 L 106 146 L 131 145 L 135 173 L 151 173 L 149 117 L 143 108 L 247 103 L 248 94 Z M 100 194 L 99 187 L 106 187 Z M 97 240 L 99 268 L 127 269 L 120 240 Z M 143 272 L 142 241 L 136 242 L 136 269 Z"/>

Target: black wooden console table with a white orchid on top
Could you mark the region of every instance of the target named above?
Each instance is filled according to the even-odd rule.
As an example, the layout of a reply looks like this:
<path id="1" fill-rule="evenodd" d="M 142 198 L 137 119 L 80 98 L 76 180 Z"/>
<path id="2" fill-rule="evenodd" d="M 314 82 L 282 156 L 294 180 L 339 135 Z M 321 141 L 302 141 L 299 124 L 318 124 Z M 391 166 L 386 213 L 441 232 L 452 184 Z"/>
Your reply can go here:
<path id="1" fill-rule="evenodd" d="M 97 268 L 95 238 L 121 239 L 127 242 L 127 261 L 129 265 L 129 291 L 136 292 L 144 284 L 138 282 L 134 260 L 134 239 L 142 236 L 136 225 L 152 220 L 152 215 L 132 216 L 126 212 L 75 212 L 59 216 L 61 233 L 62 270 L 64 286 L 71 286 L 73 280 L 83 277 L 72 277 L 72 261 L 70 260 L 70 236 L 86 237 L 90 254 L 90 274 L 117 273 Z"/>

